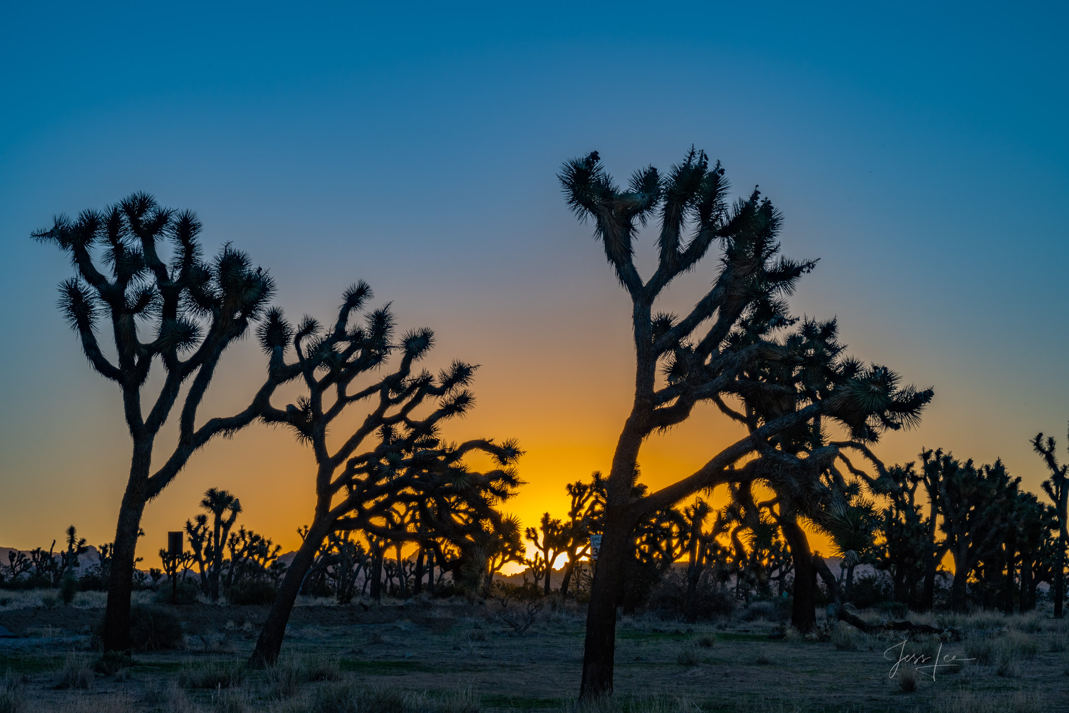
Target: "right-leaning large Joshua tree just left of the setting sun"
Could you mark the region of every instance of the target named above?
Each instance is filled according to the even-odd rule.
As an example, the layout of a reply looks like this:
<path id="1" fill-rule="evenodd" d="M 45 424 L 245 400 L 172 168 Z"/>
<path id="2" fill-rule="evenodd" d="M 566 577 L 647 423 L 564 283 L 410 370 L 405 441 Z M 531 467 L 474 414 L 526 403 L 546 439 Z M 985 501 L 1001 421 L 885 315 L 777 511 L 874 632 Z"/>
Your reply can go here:
<path id="1" fill-rule="evenodd" d="M 393 317 L 386 308 L 367 314 L 365 324 L 355 316 L 371 296 L 359 283 L 343 296 L 337 320 L 326 330 L 306 317 L 294 330 L 279 311 L 273 311 L 263 328 L 264 346 L 281 360 L 292 346 L 307 393 L 284 409 L 269 404 L 264 420 L 290 427 L 297 438 L 311 446 L 315 456 L 315 511 L 305 541 L 286 570 L 278 596 L 255 650 L 252 663 L 274 664 L 282 646 L 300 583 L 315 558 L 320 543 L 332 531 L 363 530 L 369 539 L 388 542 L 448 537 L 465 527 L 478 526 L 495 516 L 492 505 L 508 497 L 518 485 L 510 464 L 520 455 L 513 443 L 497 445 L 478 439 L 447 444 L 438 433 L 444 421 L 467 412 L 474 396 L 465 387 L 475 368 L 453 362 L 435 377 L 427 371 L 414 373 L 434 342 L 429 329 L 393 339 Z M 393 370 L 376 375 L 391 355 L 400 358 Z M 328 443 L 328 428 L 343 414 L 369 403 L 370 413 L 340 444 Z M 416 416 L 420 407 L 430 414 Z M 496 459 L 498 469 L 471 472 L 465 458 L 481 451 Z M 415 506 L 420 527 L 398 531 L 389 526 L 394 508 Z M 471 516 L 459 512 L 466 506 Z M 392 513 L 392 514 L 391 514 Z M 372 546 L 381 562 L 381 548 Z M 372 586 L 379 576 L 374 567 Z"/>

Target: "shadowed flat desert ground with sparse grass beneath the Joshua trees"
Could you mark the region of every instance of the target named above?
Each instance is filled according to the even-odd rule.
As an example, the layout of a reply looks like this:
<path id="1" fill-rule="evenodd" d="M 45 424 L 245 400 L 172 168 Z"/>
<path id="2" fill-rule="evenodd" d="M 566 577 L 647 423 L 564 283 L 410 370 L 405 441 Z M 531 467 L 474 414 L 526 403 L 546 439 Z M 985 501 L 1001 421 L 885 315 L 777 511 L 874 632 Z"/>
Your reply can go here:
<path id="1" fill-rule="evenodd" d="M 0 626 L 14 635 L 0 639 L 0 713 L 571 711 L 583 656 L 584 615 L 572 603 L 547 600 L 520 633 L 525 621 L 493 600 L 311 600 L 294 610 L 274 669 L 243 666 L 266 607 L 192 604 L 174 607 L 182 648 L 136 652 L 133 666 L 94 672 L 102 595 L 57 606 L 5 592 L 0 603 Z M 693 624 L 622 616 L 615 700 L 598 710 L 1069 710 L 1069 622 L 1043 611 L 909 616 L 956 633 L 905 640 L 839 623 L 801 637 L 758 605 Z M 973 661 L 940 666 L 933 680 L 936 652 L 941 662 Z"/>

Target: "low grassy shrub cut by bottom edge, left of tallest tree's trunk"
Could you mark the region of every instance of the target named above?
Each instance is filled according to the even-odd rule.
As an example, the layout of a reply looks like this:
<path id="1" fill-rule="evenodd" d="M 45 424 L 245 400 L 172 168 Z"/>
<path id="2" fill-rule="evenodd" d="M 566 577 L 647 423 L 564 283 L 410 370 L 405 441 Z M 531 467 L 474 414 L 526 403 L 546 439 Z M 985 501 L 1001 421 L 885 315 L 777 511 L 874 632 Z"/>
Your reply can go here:
<path id="1" fill-rule="evenodd" d="M 432 696 L 353 682 L 319 688 L 308 708 L 303 709 L 307 713 L 479 713 L 479 698 L 470 689 Z"/>

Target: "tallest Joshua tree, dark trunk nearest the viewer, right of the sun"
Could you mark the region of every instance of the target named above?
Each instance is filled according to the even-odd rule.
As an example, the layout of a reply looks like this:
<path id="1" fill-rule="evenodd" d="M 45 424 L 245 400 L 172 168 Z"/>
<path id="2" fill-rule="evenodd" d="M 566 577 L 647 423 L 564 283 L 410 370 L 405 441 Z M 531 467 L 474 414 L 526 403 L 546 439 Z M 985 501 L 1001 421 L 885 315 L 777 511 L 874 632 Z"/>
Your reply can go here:
<path id="1" fill-rule="evenodd" d="M 778 255 L 780 215 L 756 190 L 729 208 L 724 170 L 718 164 L 710 166 L 703 152 L 692 150 L 665 176 L 652 167 L 637 171 L 625 189 L 605 172 L 597 152 L 566 162 L 559 179 L 569 206 L 580 218 L 593 220 L 594 235 L 631 298 L 635 348 L 634 401 L 606 479 L 604 533 L 587 614 L 580 695 L 591 698 L 611 692 L 615 608 L 632 530 L 644 516 L 740 476 L 753 477 L 764 466 L 729 466 L 759 447 L 775 450 L 775 439 L 787 430 L 807 424 L 814 429 L 823 416 L 846 424 L 854 440 L 872 439 L 881 429 L 915 418 L 930 393 L 900 390 L 897 377 L 883 368 L 866 370 L 842 361 L 833 365 L 831 388 L 821 393 L 796 383 L 764 384 L 744 375 L 747 369 L 760 372 L 770 357 L 780 374 L 804 371 L 808 356 L 773 342 L 771 336 L 792 323 L 781 297 L 816 263 Z M 635 266 L 634 243 L 651 217 L 661 223 L 657 266 L 644 281 Z M 695 268 L 714 243 L 723 247 L 723 257 L 712 289 L 682 319 L 655 314 L 656 298 L 675 278 Z M 667 384 L 659 385 L 659 373 L 667 376 Z M 778 400 L 774 417 L 748 408 L 761 394 Z M 741 400 L 743 412 L 731 413 L 742 422 L 753 416 L 754 428 L 694 474 L 633 498 L 635 466 L 646 438 L 686 420 L 699 403 L 727 408 L 725 399 Z"/>

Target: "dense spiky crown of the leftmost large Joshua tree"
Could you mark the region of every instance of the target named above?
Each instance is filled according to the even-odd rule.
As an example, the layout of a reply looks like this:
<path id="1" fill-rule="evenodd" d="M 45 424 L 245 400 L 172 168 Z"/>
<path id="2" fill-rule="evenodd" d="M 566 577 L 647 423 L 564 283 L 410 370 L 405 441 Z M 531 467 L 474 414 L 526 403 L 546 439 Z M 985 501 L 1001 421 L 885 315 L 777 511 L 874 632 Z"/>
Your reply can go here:
<path id="1" fill-rule="evenodd" d="M 60 309 L 102 374 L 140 384 L 156 356 L 168 370 L 180 370 L 177 355 L 197 350 L 185 362 L 191 370 L 262 315 L 275 292 L 270 276 L 229 244 L 204 262 L 200 231 L 193 213 L 134 193 L 104 211 L 59 216 L 50 229 L 33 234 L 71 257 L 77 275 L 60 284 Z M 161 254 L 167 248 L 170 261 Z M 96 342 L 102 313 L 112 322 L 118 368 Z M 139 322 L 151 324 L 150 339 L 142 340 Z"/>

